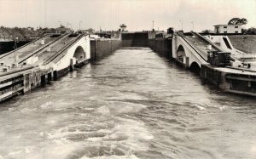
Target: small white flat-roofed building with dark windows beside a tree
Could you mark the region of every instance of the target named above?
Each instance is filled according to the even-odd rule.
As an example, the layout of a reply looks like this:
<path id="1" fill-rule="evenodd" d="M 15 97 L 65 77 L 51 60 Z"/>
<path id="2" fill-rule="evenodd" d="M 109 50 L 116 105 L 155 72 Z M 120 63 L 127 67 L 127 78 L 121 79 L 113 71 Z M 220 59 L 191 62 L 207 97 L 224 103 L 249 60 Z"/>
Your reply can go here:
<path id="1" fill-rule="evenodd" d="M 217 25 L 214 26 L 216 34 L 241 34 L 241 25 Z"/>

